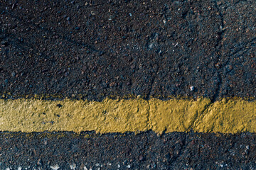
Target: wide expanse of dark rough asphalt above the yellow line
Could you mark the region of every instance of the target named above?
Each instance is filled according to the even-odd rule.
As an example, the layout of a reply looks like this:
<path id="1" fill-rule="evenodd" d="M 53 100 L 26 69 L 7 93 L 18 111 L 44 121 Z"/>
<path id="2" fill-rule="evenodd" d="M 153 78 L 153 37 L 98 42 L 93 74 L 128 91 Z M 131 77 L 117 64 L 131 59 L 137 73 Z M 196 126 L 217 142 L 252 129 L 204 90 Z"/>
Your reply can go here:
<path id="1" fill-rule="evenodd" d="M 1 0 L 1 94 L 255 97 L 255 6 Z"/>

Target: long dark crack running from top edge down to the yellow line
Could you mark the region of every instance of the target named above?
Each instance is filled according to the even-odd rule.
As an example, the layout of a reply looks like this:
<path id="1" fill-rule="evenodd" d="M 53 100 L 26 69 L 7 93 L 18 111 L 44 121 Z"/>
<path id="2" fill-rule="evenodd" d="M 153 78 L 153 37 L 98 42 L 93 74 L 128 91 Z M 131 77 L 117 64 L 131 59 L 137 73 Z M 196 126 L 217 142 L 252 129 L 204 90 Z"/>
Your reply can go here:
<path id="1" fill-rule="evenodd" d="M 214 1 L 214 4 L 215 4 L 215 8 L 217 8 L 217 11 L 219 13 L 219 16 L 220 16 L 220 32 L 218 32 L 218 39 L 217 39 L 217 42 L 216 42 L 216 45 L 215 45 L 215 48 L 218 49 L 220 51 L 220 55 L 217 55 L 217 62 L 220 60 L 220 57 L 223 56 L 223 52 L 222 52 L 222 43 L 223 43 L 223 35 L 224 35 L 224 32 L 225 30 L 224 29 L 224 19 L 223 19 L 223 13 L 220 11 L 220 8 L 217 4 L 217 1 Z M 216 62 L 216 63 L 217 63 Z M 220 96 L 220 90 L 221 90 L 221 87 L 223 86 L 223 78 L 220 74 L 220 71 L 218 70 L 218 68 L 216 68 L 217 70 L 217 74 L 218 74 L 218 85 L 217 85 L 217 89 L 215 90 L 215 94 L 213 95 L 213 98 L 211 99 L 212 103 L 217 101 L 219 96 Z"/>

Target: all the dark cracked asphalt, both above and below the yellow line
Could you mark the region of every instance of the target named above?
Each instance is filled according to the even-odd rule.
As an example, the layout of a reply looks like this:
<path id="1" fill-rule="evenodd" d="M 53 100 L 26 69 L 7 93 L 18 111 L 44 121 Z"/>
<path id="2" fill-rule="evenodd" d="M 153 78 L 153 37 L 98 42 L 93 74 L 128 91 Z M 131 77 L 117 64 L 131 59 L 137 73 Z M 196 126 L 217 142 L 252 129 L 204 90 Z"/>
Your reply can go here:
<path id="1" fill-rule="evenodd" d="M 0 98 L 255 100 L 254 0 L 0 0 L 0 13 Z M 1 132 L 0 141 L 1 169 L 256 167 L 250 132 Z"/>

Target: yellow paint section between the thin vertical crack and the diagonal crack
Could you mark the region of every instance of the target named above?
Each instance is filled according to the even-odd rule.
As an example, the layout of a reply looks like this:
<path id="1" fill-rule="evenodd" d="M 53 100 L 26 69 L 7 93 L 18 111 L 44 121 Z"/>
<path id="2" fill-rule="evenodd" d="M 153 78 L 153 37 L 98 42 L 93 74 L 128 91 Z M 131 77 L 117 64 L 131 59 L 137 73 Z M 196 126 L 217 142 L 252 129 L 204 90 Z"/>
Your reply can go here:
<path id="1" fill-rule="evenodd" d="M 193 100 L 149 100 L 151 129 L 155 132 L 184 132 L 191 130 L 193 123 L 210 104 L 206 98 Z"/>

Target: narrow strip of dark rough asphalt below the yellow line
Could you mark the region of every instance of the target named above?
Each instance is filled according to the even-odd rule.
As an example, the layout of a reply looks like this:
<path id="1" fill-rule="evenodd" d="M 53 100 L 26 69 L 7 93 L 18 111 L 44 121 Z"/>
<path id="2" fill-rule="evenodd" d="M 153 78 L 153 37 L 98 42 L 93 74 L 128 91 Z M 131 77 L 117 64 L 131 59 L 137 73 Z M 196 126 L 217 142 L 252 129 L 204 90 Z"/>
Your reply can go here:
<path id="1" fill-rule="evenodd" d="M 86 138 L 90 137 L 90 138 Z M 1 169 L 254 169 L 255 134 L 0 135 Z"/>

